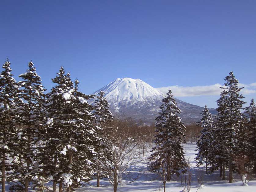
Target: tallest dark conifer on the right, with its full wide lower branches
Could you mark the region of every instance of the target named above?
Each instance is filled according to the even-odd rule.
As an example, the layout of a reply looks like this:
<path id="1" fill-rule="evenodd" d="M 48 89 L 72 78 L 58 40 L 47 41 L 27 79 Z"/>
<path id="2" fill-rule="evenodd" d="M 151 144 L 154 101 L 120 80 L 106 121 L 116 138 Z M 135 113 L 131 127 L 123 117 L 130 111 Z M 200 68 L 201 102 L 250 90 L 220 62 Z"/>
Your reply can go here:
<path id="1" fill-rule="evenodd" d="M 238 80 L 233 72 L 224 79 L 225 87 L 221 98 L 217 101 L 218 123 L 214 129 L 212 143 L 211 164 L 212 170 L 220 165 L 229 167 L 229 182 L 232 182 L 232 171 L 237 167 L 237 157 L 247 151 L 245 118 L 241 113 L 244 98 L 239 94 L 243 88 L 238 87 Z M 224 176 L 223 176 L 224 179 Z"/>

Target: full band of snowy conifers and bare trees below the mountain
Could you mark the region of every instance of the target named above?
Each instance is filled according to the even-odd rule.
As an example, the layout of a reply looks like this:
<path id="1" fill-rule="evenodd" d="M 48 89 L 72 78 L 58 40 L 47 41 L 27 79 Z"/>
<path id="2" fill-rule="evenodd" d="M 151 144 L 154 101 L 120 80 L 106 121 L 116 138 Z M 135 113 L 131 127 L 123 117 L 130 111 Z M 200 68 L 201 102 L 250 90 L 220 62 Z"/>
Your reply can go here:
<path id="1" fill-rule="evenodd" d="M 221 169 L 225 179 L 229 168 L 232 182 L 233 171 L 256 171 L 256 106 L 252 100 L 241 112 L 242 88 L 232 72 L 217 101 L 218 114 L 213 118 L 205 106 L 200 129 L 195 124 L 185 127 L 171 90 L 162 100 L 156 124 L 144 125 L 129 118 L 114 119 L 104 92 L 97 96 L 80 92 L 79 81 L 72 82 L 62 66 L 52 78 L 55 86 L 45 94 L 32 61 L 19 75 L 20 82 L 13 78 L 10 65 L 7 59 L 0 74 L 3 192 L 6 181 L 10 191 L 56 192 L 58 187 L 59 192 L 69 192 L 93 177 L 97 187 L 106 177 L 116 192 L 147 148 L 151 148 L 148 170 L 161 176 L 165 191 L 172 175 L 188 170 L 182 143 L 196 140 L 196 160 L 198 166 L 206 164 L 207 173 Z"/>

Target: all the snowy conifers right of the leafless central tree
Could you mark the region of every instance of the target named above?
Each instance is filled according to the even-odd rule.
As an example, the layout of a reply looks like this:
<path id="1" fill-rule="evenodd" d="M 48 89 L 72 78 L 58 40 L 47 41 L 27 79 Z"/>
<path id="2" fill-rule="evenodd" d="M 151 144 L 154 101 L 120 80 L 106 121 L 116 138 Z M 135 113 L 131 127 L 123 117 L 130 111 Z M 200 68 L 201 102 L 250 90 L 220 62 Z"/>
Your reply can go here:
<path id="1" fill-rule="evenodd" d="M 256 172 L 256 105 L 252 99 L 250 106 L 243 108 L 244 97 L 240 94 L 243 88 L 238 87 L 239 82 L 233 72 L 224 80 L 226 82 L 221 87 L 223 91 L 217 100 L 218 114 L 213 120 L 205 106 L 199 122 L 202 128 L 199 136 L 195 138 L 197 129 L 194 129 L 193 134 L 189 131 L 187 136 L 191 141 L 197 140 L 197 165 L 205 163 L 206 173 L 209 174 L 220 169 L 223 180 L 225 169 L 228 168 L 229 183 L 232 183 L 234 171 L 240 174 Z M 190 183 L 191 175 L 188 173 L 189 162 L 185 159 L 181 145 L 186 142 L 186 127 L 178 117 L 181 110 L 177 107 L 171 90 L 162 102 L 159 116 L 155 118 L 155 145 L 149 158 L 149 170 L 159 173 L 165 192 L 166 181 L 171 179 L 171 175 L 182 175 L 183 178 L 185 173 L 187 183 Z M 244 113 L 242 110 L 245 110 Z"/>

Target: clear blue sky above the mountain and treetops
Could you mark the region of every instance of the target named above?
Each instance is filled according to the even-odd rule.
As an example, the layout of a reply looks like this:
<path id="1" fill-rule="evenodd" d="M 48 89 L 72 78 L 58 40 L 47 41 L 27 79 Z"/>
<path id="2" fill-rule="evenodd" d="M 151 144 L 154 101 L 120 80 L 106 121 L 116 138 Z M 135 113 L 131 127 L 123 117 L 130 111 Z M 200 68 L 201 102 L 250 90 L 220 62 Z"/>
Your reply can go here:
<path id="1" fill-rule="evenodd" d="M 18 75 L 32 59 L 47 89 L 60 65 L 85 93 L 123 77 L 193 87 L 223 84 L 234 71 L 256 82 L 254 0 L 1 0 L 0 24 L 1 62 L 9 57 Z M 218 96 L 178 98 L 216 107 Z"/>

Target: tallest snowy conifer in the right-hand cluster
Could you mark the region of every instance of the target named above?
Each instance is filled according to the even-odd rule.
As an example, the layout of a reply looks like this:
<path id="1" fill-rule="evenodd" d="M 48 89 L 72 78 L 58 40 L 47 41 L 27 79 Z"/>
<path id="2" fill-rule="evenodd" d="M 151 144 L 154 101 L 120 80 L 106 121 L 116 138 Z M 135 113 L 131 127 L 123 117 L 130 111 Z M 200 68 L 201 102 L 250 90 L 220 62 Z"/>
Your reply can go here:
<path id="1" fill-rule="evenodd" d="M 230 72 L 224 80 L 226 83 L 224 84 L 225 87 L 222 87 L 222 89 L 224 89 L 222 92 L 223 97 L 219 102 L 225 107 L 221 107 L 219 110 L 217 109 L 218 111 L 221 111 L 221 115 L 218 116 L 218 129 L 221 129 L 221 135 L 220 138 L 218 138 L 220 140 L 216 147 L 222 143 L 223 152 L 221 157 L 229 162 L 229 183 L 232 183 L 232 172 L 235 168 L 234 162 L 236 161 L 238 154 L 244 153 L 246 146 L 243 141 L 246 130 L 243 125 L 244 118 L 241 113 L 242 105 L 245 102 L 241 100 L 243 99 L 243 96 L 239 94 L 240 90 L 243 88 L 238 87 L 239 82 L 235 78 L 233 72 Z M 223 164 L 225 161 L 223 161 Z M 225 169 L 225 167 L 223 166 L 222 169 Z"/>

